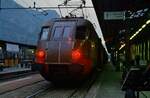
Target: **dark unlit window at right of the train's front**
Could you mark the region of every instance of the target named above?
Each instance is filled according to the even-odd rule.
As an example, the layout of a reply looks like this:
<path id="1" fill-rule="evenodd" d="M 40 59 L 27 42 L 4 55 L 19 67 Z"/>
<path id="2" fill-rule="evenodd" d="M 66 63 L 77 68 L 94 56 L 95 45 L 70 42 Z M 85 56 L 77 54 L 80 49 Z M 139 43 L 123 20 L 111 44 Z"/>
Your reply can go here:
<path id="1" fill-rule="evenodd" d="M 86 36 L 86 27 L 80 26 L 77 27 L 76 39 L 85 39 Z"/>

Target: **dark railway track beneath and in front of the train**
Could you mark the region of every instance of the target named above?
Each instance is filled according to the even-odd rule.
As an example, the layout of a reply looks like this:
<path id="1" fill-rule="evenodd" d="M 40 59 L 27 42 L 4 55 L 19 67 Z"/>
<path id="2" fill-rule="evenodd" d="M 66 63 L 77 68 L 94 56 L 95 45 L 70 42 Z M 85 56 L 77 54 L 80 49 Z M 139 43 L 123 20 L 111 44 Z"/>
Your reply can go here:
<path id="1" fill-rule="evenodd" d="M 25 98 L 85 98 L 92 85 L 95 83 L 97 75 L 92 75 L 75 88 L 55 87 L 37 90 Z"/>

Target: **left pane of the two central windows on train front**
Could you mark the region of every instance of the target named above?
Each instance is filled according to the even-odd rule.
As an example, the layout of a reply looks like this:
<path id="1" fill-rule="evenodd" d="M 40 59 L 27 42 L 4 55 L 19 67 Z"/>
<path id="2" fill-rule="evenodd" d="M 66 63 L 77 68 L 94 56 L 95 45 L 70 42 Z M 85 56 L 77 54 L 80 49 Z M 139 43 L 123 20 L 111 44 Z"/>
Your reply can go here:
<path id="1" fill-rule="evenodd" d="M 55 27 L 54 33 L 53 33 L 53 39 L 58 40 L 62 36 L 63 27 L 57 26 Z"/>

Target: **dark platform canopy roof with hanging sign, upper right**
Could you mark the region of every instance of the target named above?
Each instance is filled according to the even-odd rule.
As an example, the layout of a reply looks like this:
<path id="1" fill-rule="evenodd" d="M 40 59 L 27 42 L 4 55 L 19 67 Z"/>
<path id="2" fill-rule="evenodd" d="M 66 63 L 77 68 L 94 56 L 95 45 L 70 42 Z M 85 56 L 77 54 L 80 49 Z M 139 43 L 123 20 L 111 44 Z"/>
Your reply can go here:
<path id="1" fill-rule="evenodd" d="M 150 0 L 92 0 L 92 2 L 109 51 L 125 40 L 126 33 L 130 36 L 143 25 L 150 12 Z"/>

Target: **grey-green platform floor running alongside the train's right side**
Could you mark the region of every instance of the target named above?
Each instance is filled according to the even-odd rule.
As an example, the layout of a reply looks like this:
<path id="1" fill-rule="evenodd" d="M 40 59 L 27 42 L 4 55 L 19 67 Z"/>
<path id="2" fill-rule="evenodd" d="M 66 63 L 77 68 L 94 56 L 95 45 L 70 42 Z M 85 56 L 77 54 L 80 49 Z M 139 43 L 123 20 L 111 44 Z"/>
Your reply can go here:
<path id="1" fill-rule="evenodd" d="M 125 92 L 121 90 L 122 72 L 116 72 L 110 63 L 104 66 L 85 98 L 124 98 Z"/>

